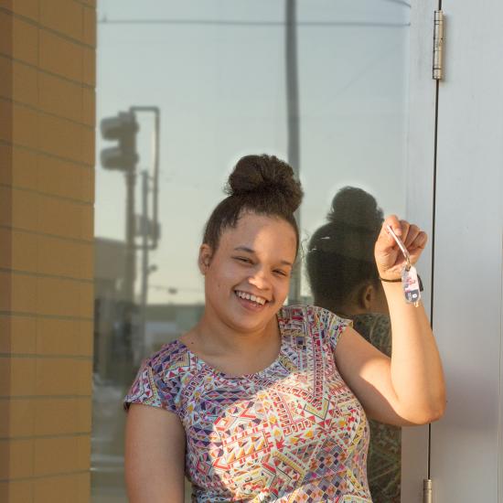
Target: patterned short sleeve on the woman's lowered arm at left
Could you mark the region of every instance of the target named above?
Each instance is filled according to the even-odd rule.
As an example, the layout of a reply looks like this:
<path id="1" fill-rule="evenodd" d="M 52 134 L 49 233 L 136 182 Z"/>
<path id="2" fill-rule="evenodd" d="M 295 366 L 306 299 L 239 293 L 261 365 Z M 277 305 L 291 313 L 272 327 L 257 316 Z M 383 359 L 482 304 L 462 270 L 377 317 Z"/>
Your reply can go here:
<path id="1" fill-rule="evenodd" d="M 124 398 L 124 409 L 131 403 L 142 403 L 152 407 L 177 412 L 177 377 L 167 378 L 162 366 L 155 365 L 154 359 L 144 361 L 136 379 Z"/>

